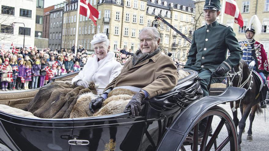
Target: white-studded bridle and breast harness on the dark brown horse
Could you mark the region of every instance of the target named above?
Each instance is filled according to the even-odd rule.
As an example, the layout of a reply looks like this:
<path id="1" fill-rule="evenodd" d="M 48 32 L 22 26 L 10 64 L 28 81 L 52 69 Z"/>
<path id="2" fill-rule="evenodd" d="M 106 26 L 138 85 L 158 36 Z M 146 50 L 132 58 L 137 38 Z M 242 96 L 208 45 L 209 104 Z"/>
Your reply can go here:
<path id="1" fill-rule="evenodd" d="M 247 84 L 247 82 L 249 81 L 249 79 L 250 79 L 250 84 L 249 84 L 249 86 L 248 86 L 248 88 L 247 88 L 247 91 L 248 90 L 251 90 L 251 84 L 253 83 L 253 81 L 252 81 L 252 70 L 253 70 L 253 68 L 251 69 L 251 71 L 250 71 L 250 74 L 249 74 L 249 76 L 248 76 L 248 78 L 244 81 L 244 82 L 242 82 L 242 80 L 243 80 L 243 65 L 242 65 L 242 63 L 241 62 L 239 62 L 240 64 L 239 64 L 239 71 L 237 71 L 237 72 L 235 72 L 234 71 L 234 68 L 233 68 L 233 71 L 234 71 L 234 73 L 227 73 L 227 75 L 229 76 L 228 77 L 228 86 L 230 87 L 230 86 L 233 86 L 233 80 L 234 80 L 234 77 L 236 76 L 236 75 L 238 75 L 239 76 L 239 80 L 238 80 L 238 85 L 237 85 L 237 87 L 238 88 L 243 88 L 244 86 L 245 86 L 245 84 Z M 240 66 L 241 65 L 241 66 Z M 231 78 L 231 79 L 230 79 Z M 240 105 L 241 105 L 241 100 L 244 98 L 244 96 L 240 99 L 240 102 L 239 102 L 239 107 L 240 107 Z M 236 101 L 234 101 L 234 107 L 231 109 L 233 112 L 235 112 L 236 111 L 236 108 L 235 108 L 235 105 L 236 105 Z"/>

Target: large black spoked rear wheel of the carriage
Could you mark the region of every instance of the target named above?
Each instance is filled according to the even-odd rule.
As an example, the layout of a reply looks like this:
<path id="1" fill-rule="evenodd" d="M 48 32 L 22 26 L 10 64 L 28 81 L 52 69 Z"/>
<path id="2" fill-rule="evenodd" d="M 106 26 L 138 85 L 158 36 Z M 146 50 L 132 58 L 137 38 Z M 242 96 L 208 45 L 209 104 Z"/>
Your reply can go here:
<path id="1" fill-rule="evenodd" d="M 202 138 L 198 137 L 198 129 L 199 129 L 199 122 L 208 117 L 207 126 L 205 128 L 205 133 Z M 217 127 L 212 135 L 209 135 L 210 126 L 212 124 L 212 120 L 215 118 L 219 118 L 219 124 L 217 124 Z M 223 126 L 226 126 L 227 129 L 227 137 L 219 140 L 219 133 L 220 131 L 226 131 L 223 130 Z M 217 143 L 218 142 L 218 143 Z M 193 136 L 188 135 L 185 138 L 185 141 L 183 145 L 191 145 L 190 149 L 193 151 L 220 151 L 225 146 L 228 146 L 230 142 L 230 150 L 238 150 L 238 144 L 237 144 L 237 132 L 233 123 L 232 118 L 230 115 L 221 107 L 215 106 L 211 108 L 210 110 L 206 111 L 196 122 L 195 126 L 193 127 Z M 219 145 L 218 145 L 219 144 Z M 181 151 L 188 150 L 187 146 L 181 146 Z M 212 148 L 214 146 L 214 149 Z M 199 148 L 200 147 L 200 148 Z"/>

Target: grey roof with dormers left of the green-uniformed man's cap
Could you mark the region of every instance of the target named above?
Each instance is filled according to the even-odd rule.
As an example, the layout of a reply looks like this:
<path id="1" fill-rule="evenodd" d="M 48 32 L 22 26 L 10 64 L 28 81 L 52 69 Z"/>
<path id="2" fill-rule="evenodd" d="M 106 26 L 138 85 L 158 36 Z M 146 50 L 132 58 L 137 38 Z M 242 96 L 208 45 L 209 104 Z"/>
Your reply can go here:
<path id="1" fill-rule="evenodd" d="M 151 2 L 151 0 L 149 0 L 147 2 L 147 5 L 149 6 L 153 6 L 153 7 L 157 7 L 157 8 L 161 8 L 161 9 L 170 9 L 170 8 L 177 8 L 177 4 L 181 5 L 181 6 L 186 6 L 186 7 L 190 7 L 190 8 L 195 8 L 195 1 L 193 0 L 160 0 L 161 3 L 158 4 L 159 0 L 155 0 L 154 3 Z M 164 5 L 164 2 L 167 3 L 167 5 Z M 174 4 L 173 7 L 171 7 L 171 3 Z M 181 7 L 182 9 L 182 7 Z"/>

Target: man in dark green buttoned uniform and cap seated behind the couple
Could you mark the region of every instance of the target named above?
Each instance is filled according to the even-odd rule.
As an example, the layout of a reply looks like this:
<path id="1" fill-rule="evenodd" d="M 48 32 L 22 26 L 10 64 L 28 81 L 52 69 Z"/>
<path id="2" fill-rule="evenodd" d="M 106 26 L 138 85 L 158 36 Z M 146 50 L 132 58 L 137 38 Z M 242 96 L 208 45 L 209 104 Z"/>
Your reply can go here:
<path id="1" fill-rule="evenodd" d="M 200 85 L 204 96 L 208 94 L 208 84 L 211 74 L 214 77 L 222 77 L 242 58 L 242 50 L 232 27 L 217 22 L 220 14 L 220 0 L 205 0 L 204 17 L 206 24 L 193 33 L 193 39 L 189 50 L 188 60 L 184 68 L 195 70 L 202 78 Z M 227 49 L 230 56 L 227 56 Z M 220 79 L 212 79 L 212 83 L 220 82 Z M 199 125 L 199 136 L 205 131 L 207 119 Z"/>

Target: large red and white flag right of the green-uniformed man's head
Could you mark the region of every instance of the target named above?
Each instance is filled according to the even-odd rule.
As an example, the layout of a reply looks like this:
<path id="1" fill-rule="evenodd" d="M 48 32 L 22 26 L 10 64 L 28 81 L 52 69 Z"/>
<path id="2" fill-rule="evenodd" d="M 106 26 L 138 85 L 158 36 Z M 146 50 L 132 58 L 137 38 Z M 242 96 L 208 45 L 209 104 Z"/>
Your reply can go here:
<path id="1" fill-rule="evenodd" d="M 235 0 L 226 0 L 225 2 L 225 14 L 234 16 L 234 22 L 242 28 L 244 26 L 244 21 L 239 11 L 239 8 Z"/>

